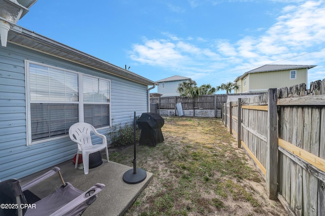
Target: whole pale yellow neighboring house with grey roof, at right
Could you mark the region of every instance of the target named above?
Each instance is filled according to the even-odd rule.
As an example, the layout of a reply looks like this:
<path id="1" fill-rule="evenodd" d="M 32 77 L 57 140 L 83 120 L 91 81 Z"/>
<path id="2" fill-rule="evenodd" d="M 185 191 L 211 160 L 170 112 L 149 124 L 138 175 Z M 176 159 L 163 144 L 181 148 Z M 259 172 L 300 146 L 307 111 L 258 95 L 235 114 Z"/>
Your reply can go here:
<path id="1" fill-rule="evenodd" d="M 239 85 L 235 93 L 266 92 L 269 88 L 282 88 L 306 83 L 308 69 L 316 65 L 266 64 L 236 78 Z"/>

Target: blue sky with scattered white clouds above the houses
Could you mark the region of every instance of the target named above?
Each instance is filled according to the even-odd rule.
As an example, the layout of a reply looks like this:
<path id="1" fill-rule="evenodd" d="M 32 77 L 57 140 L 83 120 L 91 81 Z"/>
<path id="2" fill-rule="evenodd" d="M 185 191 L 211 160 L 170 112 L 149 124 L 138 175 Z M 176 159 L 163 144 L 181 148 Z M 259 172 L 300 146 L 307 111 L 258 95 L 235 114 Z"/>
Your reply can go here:
<path id="1" fill-rule="evenodd" d="M 17 24 L 152 81 L 215 87 L 271 63 L 325 78 L 325 0 L 38 0 Z"/>

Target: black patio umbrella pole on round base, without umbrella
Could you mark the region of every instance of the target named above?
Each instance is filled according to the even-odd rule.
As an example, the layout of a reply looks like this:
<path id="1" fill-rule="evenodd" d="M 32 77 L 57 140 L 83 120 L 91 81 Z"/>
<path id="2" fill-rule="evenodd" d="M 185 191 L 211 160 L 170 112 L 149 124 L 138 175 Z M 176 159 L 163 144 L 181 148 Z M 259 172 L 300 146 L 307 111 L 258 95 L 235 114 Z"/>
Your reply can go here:
<path id="1" fill-rule="evenodd" d="M 147 172 L 144 169 L 137 169 L 137 158 L 136 158 L 136 112 L 134 112 L 134 123 L 133 123 L 133 135 L 134 135 L 134 159 L 133 169 L 129 169 L 123 174 L 123 181 L 127 184 L 138 184 L 143 182 L 147 177 Z"/>

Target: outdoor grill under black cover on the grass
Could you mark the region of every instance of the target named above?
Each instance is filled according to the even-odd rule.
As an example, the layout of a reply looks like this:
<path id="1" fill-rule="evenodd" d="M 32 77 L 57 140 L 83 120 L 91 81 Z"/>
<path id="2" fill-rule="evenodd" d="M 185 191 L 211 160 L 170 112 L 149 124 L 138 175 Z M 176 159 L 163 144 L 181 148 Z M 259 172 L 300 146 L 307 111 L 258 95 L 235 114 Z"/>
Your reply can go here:
<path id="1" fill-rule="evenodd" d="M 140 145 L 157 146 L 157 143 L 164 141 L 161 127 L 164 126 L 165 120 L 156 113 L 143 113 L 137 120 L 141 129 Z"/>

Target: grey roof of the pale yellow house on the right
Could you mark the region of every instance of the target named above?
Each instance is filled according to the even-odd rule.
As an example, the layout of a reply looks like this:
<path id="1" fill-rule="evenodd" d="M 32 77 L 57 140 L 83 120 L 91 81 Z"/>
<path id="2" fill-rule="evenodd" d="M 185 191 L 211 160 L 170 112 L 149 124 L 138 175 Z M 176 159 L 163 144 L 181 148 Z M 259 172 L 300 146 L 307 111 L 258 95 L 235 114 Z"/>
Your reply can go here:
<path id="1" fill-rule="evenodd" d="M 236 78 L 236 81 L 238 81 L 241 78 L 244 78 L 247 74 L 252 74 L 252 73 L 262 73 L 262 72 L 268 72 L 268 71 L 277 71 L 277 70 L 289 70 L 289 69 L 300 69 L 300 68 L 313 68 L 316 65 L 299 65 L 299 64 L 266 64 L 261 67 L 257 67 L 255 69 L 247 71 L 245 74 L 242 76 L 239 76 Z"/>

